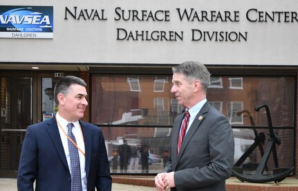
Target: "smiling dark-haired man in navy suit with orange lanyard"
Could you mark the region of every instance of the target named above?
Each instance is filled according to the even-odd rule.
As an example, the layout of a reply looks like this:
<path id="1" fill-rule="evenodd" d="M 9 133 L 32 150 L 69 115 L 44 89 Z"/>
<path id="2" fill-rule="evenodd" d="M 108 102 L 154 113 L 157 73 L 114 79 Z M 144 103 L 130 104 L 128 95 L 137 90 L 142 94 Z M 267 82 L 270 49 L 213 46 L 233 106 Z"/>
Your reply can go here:
<path id="1" fill-rule="evenodd" d="M 34 182 L 35 190 L 42 191 L 111 190 L 102 131 L 91 123 L 80 121 L 88 105 L 85 87 L 84 80 L 78 77 L 62 77 L 57 81 L 54 90 L 57 114 L 27 129 L 17 176 L 19 191 L 34 190 Z M 71 129 L 68 123 L 73 125 L 72 135 L 68 134 Z M 73 152 L 79 153 L 75 157 L 76 166 L 73 165 Z M 76 175 L 75 168 L 78 169 Z M 76 181 L 77 188 L 73 187 L 75 179 L 80 180 Z"/>

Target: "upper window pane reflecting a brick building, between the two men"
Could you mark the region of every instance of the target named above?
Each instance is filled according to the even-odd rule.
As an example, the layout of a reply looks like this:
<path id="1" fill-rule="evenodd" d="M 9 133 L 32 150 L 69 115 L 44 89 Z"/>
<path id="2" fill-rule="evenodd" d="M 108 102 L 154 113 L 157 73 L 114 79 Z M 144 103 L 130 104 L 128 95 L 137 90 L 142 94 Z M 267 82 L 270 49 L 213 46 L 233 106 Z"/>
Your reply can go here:
<path id="1" fill-rule="evenodd" d="M 170 108 L 178 108 L 177 103 L 171 105 L 173 102 L 170 102 L 174 99 L 170 92 L 171 83 L 164 83 L 165 91 L 155 92 L 155 76 L 93 74 L 92 79 L 92 123 L 171 125 L 178 115 L 178 109 L 176 112 L 170 111 Z M 130 83 L 127 83 L 127 79 L 130 79 Z M 138 81 L 138 88 L 132 88 L 135 86 L 131 86 L 131 79 Z"/>

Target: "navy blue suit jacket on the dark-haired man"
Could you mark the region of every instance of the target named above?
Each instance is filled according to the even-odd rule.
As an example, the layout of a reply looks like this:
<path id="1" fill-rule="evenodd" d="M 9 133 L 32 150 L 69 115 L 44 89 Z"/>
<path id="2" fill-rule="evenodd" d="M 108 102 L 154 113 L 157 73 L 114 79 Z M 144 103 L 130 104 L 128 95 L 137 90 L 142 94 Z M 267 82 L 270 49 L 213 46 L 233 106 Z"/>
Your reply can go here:
<path id="1" fill-rule="evenodd" d="M 80 121 L 85 141 L 87 190 L 111 190 L 111 175 L 102 130 Z M 62 141 L 55 117 L 30 125 L 22 145 L 17 188 L 41 191 L 71 191 Z"/>

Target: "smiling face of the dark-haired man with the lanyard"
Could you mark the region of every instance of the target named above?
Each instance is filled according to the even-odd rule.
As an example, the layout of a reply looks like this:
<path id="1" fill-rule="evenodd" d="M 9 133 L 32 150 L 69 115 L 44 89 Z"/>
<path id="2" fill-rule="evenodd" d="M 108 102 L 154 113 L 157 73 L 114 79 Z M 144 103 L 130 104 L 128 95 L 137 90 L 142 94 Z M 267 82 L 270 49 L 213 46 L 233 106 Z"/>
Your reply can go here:
<path id="1" fill-rule="evenodd" d="M 84 111 L 88 105 L 86 88 L 73 84 L 68 94 L 64 96 L 64 111 L 68 121 L 77 121 L 84 117 Z"/>

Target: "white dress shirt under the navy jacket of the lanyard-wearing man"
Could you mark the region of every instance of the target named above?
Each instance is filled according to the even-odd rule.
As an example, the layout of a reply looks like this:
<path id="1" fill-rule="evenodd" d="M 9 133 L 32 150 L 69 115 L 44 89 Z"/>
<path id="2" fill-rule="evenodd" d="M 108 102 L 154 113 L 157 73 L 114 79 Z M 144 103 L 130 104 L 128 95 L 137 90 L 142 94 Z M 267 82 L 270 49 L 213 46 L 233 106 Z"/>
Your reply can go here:
<path id="1" fill-rule="evenodd" d="M 68 138 L 66 136 L 67 131 L 68 131 L 67 124 L 70 122 L 66 121 L 61 116 L 59 116 L 58 112 L 56 114 L 56 119 L 57 119 L 57 125 L 58 125 L 58 129 L 59 129 L 60 138 L 62 141 L 66 160 L 68 163 L 68 168 L 71 169 L 71 157 L 68 152 Z M 71 123 L 73 123 L 73 125 L 75 125 L 73 127 L 72 132 L 75 135 L 75 141 L 77 142 L 77 146 L 80 148 L 80 150 L 82 150 L 82 152 L 85 153 L 85 143 L 84 143 L 83 133 L 80 128 L 80 123 L 79 123 L 79 121 L 75 121 L 75 122 L 71 122 Z M 61 125 L 61 127 L 59 125 Z M 64 131 L 62 130 L 62 128 Z M 79 157 L 80 157 L 82 188 L 83 188 L 83 191 L 86 191 L 87 190 L 87 179 L 86 179 L 86 170 L 85 170 L 85 156 L 84 156 L 84 154 L 82 154 L 82 152 L 80 152 L 80 150 L 79 150 Z"/>

